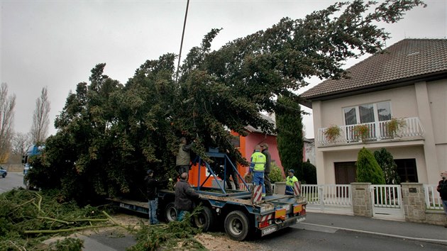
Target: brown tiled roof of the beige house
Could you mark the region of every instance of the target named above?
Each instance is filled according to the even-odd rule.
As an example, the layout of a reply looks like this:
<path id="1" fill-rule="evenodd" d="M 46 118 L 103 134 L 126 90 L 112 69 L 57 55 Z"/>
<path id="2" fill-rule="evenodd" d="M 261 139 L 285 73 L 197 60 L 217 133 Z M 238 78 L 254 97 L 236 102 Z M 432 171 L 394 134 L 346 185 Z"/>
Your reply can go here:
<path id="1" fill-rule="evenodd" d="M 346 71 L 350 78 L 327 79 L 301 96 L 308 100 L 319 99 L 409 79 L 447 74 L 447 39 L 404 39 Z"/>

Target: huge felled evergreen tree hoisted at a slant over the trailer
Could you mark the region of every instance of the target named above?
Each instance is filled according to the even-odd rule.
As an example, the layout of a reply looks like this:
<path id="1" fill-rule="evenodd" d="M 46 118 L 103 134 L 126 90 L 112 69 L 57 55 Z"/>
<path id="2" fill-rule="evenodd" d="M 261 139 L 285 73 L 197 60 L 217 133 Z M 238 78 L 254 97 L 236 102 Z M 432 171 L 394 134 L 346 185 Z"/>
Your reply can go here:
<path id="1" fill-rule="evenodd" d="M 181 136 L 197 140 L 198 155 L 218 146 L 246 163 L 229 130 L 245 135 L 245 126 L 252 125 L 272 133 L 259 113 L 281 112 L 275 97 L 296 101 L 293 91 L 306 85 L 307 77 L 343 77 L 345 60 L 384 45 L 388 34 L 377 21 L 394 23 L 419 5 L 419 0 L 333 4 L 303 19 L 282 18 L 211 51 L 220 31 L 213 29 L 189 51 L 178 82 L 173 54 L 146 61 L 125 86 L 104 74 L 105 64 L 96 65 L 89 83 L 79 83 L 67 97 L 55 120 L 57 134 L 48 138 L 30 174 L 78 200 L 142 194 L 145 169 L 175 173 Z"/>

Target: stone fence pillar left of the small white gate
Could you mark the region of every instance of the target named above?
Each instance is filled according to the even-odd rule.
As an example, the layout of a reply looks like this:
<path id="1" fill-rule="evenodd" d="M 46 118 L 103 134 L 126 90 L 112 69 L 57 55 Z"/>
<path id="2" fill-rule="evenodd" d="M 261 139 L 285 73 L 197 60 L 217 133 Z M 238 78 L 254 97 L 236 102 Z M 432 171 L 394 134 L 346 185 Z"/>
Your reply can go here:
<path id="1" fill-rule="evenodd" d="M 370 193 L 371 183 L 351 183 L 354 216 L 373 217 L 373 201 Z"/>

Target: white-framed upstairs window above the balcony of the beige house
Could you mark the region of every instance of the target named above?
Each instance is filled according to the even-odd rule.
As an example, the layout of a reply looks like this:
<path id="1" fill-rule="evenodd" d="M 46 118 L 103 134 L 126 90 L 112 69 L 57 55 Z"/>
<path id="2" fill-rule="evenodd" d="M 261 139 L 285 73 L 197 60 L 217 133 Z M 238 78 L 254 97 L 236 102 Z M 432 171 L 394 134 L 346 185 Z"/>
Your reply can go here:
<path id="1" fill-rule="evenodd" d="M 343 108 L 343 115 L 345 116 L 345 125 L 389 121 L 391 119 L 391 106 L 389 101 L 362 104 Z"/>

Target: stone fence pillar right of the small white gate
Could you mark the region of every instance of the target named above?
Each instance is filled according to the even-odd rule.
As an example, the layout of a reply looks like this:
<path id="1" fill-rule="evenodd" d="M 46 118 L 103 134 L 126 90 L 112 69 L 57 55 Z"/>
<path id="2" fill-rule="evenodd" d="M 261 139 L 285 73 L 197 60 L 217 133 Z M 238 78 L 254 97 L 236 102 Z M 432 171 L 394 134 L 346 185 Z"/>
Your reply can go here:
<path id="1" fill-rule="evenodd" d="M 405 221 L 425 222 L 425 194 L 421 183 L 402 183 Z"/>

